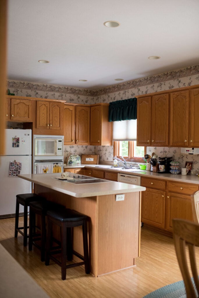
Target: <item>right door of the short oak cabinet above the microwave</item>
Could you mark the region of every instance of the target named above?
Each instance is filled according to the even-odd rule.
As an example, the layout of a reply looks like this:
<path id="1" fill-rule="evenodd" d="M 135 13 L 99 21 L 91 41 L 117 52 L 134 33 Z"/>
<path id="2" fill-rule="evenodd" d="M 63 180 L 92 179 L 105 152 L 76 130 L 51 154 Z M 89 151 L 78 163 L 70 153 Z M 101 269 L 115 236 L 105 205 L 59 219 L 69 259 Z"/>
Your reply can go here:
<path id="1" fill-rule="evenodd" d="M 61 129 L 62 128 L 62 117 L 63 117 L 63 103 L 52 102 L 49 105 L 49 120 L 50 129 Z"/>

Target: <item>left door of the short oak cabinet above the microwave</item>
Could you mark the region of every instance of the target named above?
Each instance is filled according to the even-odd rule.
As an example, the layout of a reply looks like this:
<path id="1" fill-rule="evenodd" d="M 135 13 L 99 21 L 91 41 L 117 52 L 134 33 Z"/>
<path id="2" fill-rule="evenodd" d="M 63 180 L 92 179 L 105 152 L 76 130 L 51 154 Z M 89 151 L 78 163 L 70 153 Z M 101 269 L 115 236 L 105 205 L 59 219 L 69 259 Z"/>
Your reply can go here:
<path id="1" fill-rule="evenodd" d="M 37 101 L 36 128 L 49 129 L 49 102 Z"/>

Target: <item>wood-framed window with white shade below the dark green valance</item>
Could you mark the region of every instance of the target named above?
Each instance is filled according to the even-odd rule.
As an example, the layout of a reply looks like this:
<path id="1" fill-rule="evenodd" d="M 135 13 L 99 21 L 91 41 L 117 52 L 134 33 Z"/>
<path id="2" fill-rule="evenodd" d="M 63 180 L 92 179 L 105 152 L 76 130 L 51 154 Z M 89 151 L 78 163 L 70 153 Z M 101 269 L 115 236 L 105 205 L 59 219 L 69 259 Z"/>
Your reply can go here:
<path id="1" fill-rule="evenodd" d="M 137 120 L 113 122 L 114 156 L 123 156 L 128 162 L 143 162 L 146 147 L 136 145 Z"/>

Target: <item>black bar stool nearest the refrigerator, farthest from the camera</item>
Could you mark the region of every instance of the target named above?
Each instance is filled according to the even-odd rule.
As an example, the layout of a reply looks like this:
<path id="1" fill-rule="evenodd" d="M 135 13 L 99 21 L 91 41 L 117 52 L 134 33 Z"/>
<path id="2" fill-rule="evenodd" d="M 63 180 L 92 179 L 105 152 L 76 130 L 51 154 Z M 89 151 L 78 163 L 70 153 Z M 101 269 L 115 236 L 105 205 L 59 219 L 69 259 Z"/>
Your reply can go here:
<path id="1" fill-rule="evenodd" d="M 40 195 L 36 195 L 35 193 L 22 193 L 20 195 L 16 195 L 16 211 L 15 211 L 15 238 L 18 235 L 18 232 L 24 236 L 24 246 L 27 246 L 27 238 L 28 235 L 28 207 L 29 203 L 32 201 L 41 201 L 45 200 L 45 198 Z M 24 226 L 19 227 L 19 204 L 24 206 Z M 22 232 L 21 230 L 24 230 Z"/>

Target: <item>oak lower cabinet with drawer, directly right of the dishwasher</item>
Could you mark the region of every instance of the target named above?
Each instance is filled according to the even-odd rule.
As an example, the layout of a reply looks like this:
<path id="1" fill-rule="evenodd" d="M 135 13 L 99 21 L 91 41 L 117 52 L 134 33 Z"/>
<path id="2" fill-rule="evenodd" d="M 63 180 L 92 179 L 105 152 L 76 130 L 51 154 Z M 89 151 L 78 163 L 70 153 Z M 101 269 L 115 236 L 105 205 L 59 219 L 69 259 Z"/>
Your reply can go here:
<path id="1" fill-rule="evenodd" d="M 142 192 L 141 221 L 164 229 L 166 181 L 141 178 L 141 186 L 146 187 Z"/>

